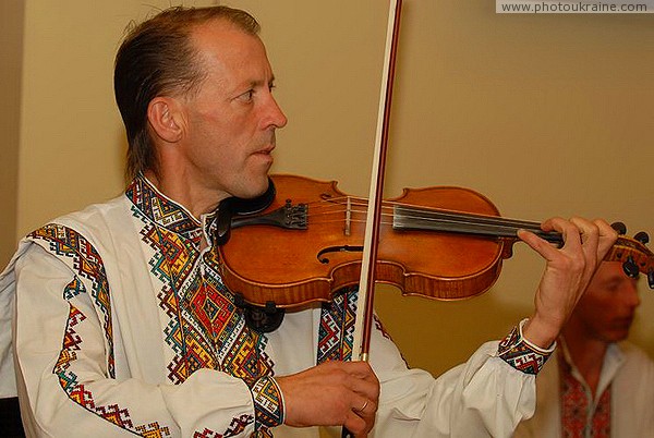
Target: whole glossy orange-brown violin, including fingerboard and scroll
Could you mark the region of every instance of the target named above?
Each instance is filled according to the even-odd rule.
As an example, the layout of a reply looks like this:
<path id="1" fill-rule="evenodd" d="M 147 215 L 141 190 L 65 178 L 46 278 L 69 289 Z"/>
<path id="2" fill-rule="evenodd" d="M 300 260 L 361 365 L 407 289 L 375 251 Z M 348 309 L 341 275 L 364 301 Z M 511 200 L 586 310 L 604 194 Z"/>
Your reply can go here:
<path id="1" fill-rule="evenodd" d="M 329 302 L 359 283 L 367 199 L 344 194 L 335 181 L 278 174 L 268 192 L 246 206 L 221 204 L 216 236 L 222 280 L 245 303 L 290 308 Z M 625 234 L 623 224 L 614 228 Z M 542 231 L 538 222 L 500 217 L 472 190 L 404 188 L 383 202 L 375 279 L 404 295 L 460 300 L 481 294 L 511 257 L 520 229 L 562 244 L 559 233 Z M 647 241 L 643 232 L 620 235 L 605 260 L 622 261 L 630 277 L 644 273 L 654 288 Z"/>

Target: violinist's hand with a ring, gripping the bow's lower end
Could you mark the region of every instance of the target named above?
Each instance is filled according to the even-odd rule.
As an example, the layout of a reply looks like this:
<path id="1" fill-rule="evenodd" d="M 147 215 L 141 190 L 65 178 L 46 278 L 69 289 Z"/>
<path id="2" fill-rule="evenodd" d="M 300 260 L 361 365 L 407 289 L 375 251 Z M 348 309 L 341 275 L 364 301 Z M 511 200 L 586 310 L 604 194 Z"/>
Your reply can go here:
<path id="1" fill-rule="evenodd" d="M 379 380 L 366 362 L 327 362 L 275 380 L 289 426 L 344 426 L 364 437 L 375 424 Z"/>

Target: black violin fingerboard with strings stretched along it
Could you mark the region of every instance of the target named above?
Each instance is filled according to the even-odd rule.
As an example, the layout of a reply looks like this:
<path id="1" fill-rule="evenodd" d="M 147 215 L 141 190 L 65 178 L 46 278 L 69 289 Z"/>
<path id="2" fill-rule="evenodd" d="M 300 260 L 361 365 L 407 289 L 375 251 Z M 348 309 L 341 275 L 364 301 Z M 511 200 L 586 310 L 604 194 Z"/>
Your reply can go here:
<path id="1" fill-rule="evenodd" d="M 404 231 L 440 231 L 513 240 L 518 239 L 518 230 L 528 230 L 548 242 L 558 245 L 564 242 L 560 233 L 545 232 L 541 230 L 541 224 L 537 222 L 400 205 L 393 206 L 392 228 Z"/>

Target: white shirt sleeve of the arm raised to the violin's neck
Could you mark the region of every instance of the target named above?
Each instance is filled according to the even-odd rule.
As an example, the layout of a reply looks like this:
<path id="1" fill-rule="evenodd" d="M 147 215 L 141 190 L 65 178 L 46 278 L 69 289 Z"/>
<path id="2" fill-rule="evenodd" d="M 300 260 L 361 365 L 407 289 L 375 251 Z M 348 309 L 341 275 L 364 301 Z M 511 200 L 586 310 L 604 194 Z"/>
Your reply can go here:
<path id="1" fill-rule="evenodd" d="M 499 342 L 483 344 L 467 363 L 435 379 L 427 372 L 409 369 L 377 328 L 371 364 L 382 391 L 372 437 L 508 438 L 520 421 L 533 414 L 535 375 L 501 357 Z M 512 331 L 502 341 L 504 351 L 521 341 L 520 330 Z"/>

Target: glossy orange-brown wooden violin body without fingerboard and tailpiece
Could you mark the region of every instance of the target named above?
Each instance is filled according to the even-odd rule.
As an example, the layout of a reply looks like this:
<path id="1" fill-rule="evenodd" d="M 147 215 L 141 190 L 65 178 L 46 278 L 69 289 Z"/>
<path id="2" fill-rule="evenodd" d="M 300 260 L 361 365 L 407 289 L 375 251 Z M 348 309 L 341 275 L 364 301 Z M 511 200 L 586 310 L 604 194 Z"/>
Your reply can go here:
<path id="1" fill-rule="evenodd" d="M 271 177 L 277 196 L 266 210 L 305 205 L 306 227 L 232 228 L 219 246 L 222 280 L 245 302 L 278 307 L 330 301 L 359 282 L 365 232 L 365 200 L 348 196 L 335 181 Z M 393 227 L 395 206 L 416 206 L 498 216 L 483 195 L 459 187 L 404 190 L 384 207 L 375 279 L 403 294 L 458 300 L 486 291 L 511 255 L 514 238 L 488 238 Z"/>

